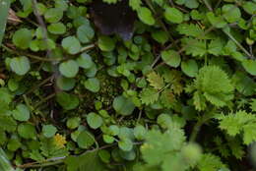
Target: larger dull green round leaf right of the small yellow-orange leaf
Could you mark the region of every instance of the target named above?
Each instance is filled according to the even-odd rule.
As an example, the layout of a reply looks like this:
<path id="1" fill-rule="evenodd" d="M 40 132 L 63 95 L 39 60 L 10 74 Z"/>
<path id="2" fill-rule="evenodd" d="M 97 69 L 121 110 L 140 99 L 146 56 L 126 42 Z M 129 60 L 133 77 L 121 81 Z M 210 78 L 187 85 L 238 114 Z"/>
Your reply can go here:
<path id="1" fill-rule="evenodd" d="M 95 138 L 91 133 L 83 131 L 78 136 L 77 143 L 79 147 L 88 149 L 95 143 Z"/>

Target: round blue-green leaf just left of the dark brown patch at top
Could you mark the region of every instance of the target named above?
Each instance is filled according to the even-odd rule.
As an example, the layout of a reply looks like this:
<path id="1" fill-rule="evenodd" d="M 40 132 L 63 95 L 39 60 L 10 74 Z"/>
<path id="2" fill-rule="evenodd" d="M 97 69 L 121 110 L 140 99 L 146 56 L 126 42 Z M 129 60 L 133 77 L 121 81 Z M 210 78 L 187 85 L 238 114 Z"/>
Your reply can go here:
<path id="1" fill-rule="evenodd" d="M 83 43 L 88 43 L 94 38 L 95 30 L 90 25 L 82 25 L 77 29 L 77 36 Z"/>

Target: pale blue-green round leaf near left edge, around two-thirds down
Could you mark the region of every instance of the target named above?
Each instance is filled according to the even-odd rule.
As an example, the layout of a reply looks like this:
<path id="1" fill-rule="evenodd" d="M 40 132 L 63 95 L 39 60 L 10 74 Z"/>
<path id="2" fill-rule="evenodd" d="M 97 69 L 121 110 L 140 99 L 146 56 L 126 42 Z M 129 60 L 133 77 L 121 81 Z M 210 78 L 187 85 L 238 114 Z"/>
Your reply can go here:
<path id="1" fill-rule="evenodd" d="M 30 109 L 25 104 L 18 104 L 12 114 L 17 121 L 28 121 L 31 118 Z"/>

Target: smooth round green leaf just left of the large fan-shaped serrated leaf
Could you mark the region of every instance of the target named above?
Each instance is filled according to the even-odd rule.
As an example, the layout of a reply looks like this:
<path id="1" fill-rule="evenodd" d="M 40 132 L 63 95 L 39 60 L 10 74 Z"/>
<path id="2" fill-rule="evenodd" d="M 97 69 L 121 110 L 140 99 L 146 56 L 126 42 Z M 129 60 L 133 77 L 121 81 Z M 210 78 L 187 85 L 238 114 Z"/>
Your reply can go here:
<path id="1" fill-rule="evenodd" d="M 198 65 L 194 59 L 181 62 L 181 70 L 188 77 L 194 78 L 198 73 Z"/>

